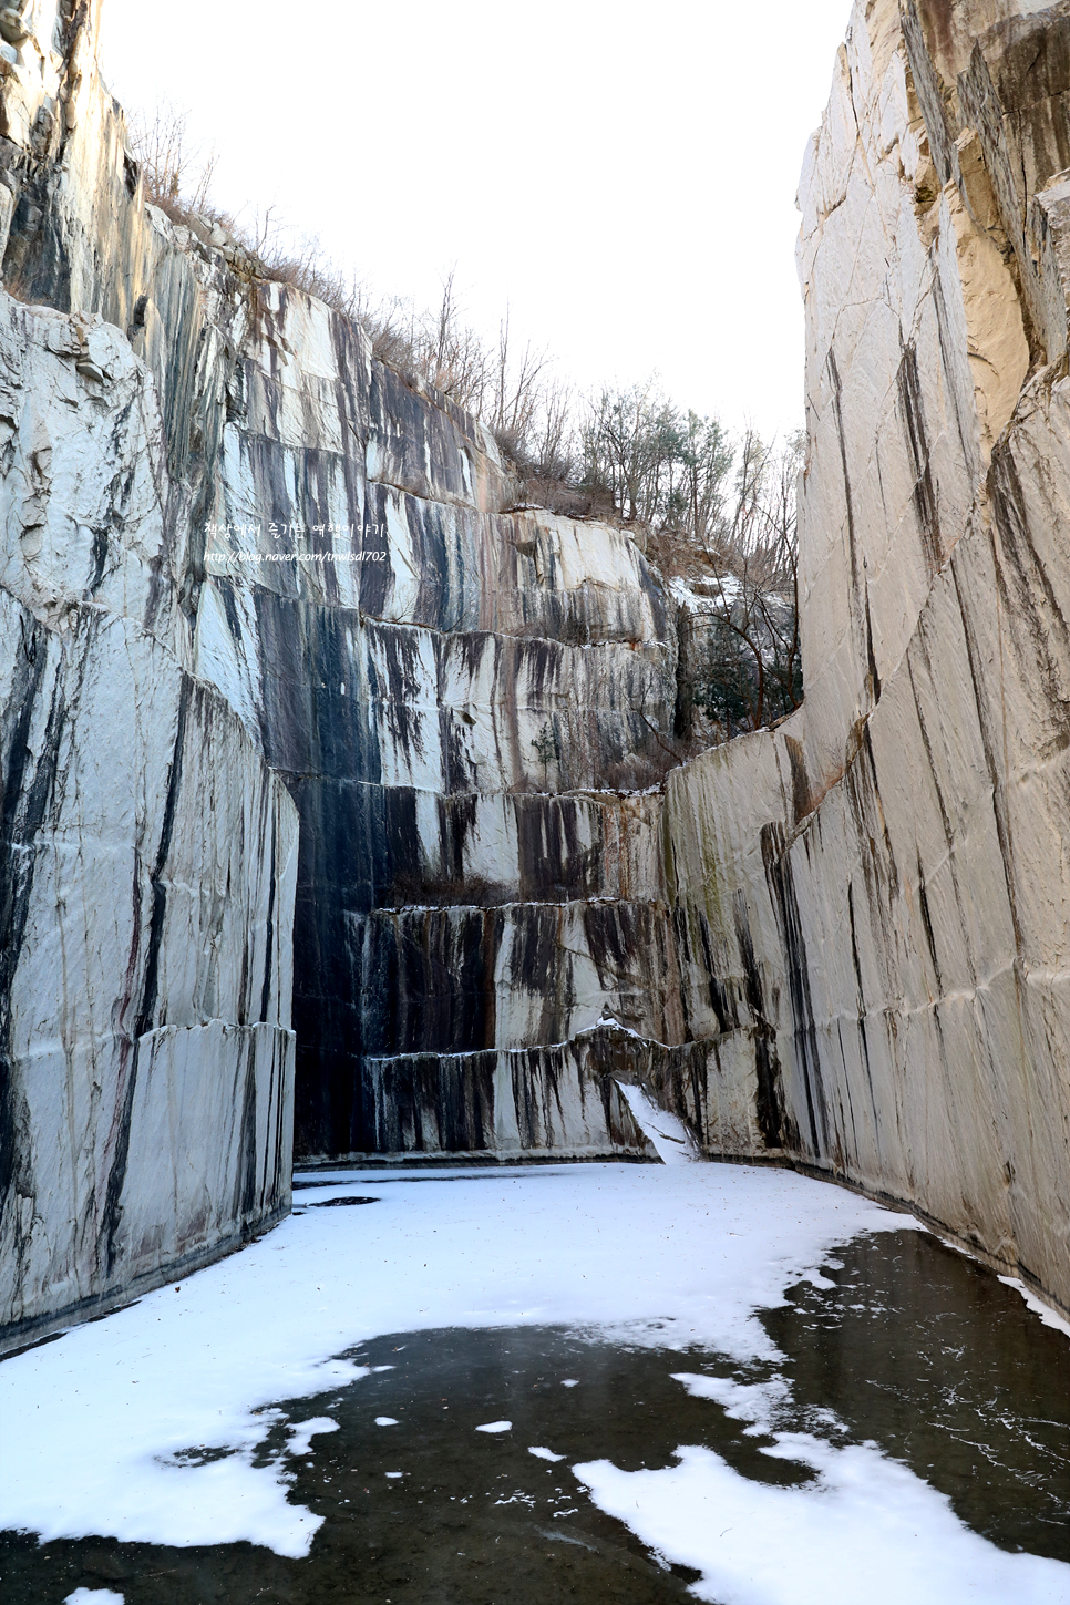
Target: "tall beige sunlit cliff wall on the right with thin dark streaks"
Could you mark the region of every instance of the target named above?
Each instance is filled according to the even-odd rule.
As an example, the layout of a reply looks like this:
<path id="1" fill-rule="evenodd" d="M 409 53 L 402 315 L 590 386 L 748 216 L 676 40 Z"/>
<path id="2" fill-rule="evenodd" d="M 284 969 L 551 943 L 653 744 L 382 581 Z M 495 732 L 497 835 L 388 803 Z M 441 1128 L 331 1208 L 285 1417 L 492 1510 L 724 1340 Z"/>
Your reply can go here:
<path id="1" fill-rule="evenodd" d="M 807 701 L 666 804 L 759 1148 L 1064 1305 L 1068 96 L 1067 5 L 855 8 L 800 188 Z"/>

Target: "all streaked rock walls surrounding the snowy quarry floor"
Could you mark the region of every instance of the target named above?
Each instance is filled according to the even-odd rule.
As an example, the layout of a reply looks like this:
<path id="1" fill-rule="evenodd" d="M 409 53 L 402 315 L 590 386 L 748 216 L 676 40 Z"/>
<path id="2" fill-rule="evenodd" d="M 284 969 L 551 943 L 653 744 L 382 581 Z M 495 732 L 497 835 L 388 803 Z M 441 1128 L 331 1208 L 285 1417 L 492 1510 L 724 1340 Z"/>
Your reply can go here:
<path id="1" fill-rule="evenodd" d="M 11 14 L 8 1339 L 270 1223 L 292 1141 L 651 1157 L 627 1083 L 1070 1303 L 1070 3 L 855 8 L 800 188 L 807 701 L 683 767 L 627 534 L 146 205 L 95 5 Z"/>

